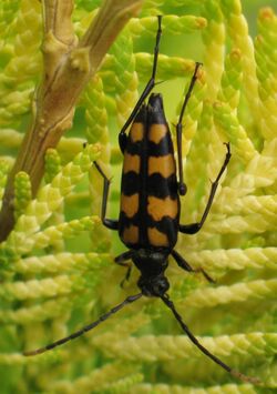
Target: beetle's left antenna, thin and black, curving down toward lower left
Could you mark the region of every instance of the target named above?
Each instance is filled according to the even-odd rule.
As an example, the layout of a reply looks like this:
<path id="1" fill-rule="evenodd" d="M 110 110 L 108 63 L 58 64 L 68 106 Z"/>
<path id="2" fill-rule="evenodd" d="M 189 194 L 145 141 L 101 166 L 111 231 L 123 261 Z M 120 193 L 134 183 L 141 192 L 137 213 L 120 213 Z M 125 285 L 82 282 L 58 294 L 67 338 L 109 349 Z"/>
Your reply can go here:
<path id="1" fill-rule="evenodd" d="M 142 296 L 142 293 L 135 294 L 135 295 L 130 295 L 127 296 L 122 303 L 120 303 L 119 305 L 115 305 L 114 307 L 112 307 L 109 312 L 104 313 L 102 316 L 100 316 L 95 322 L 85 325 L 83 329 L 76 331 L 75 333 L 65 336 L 59 341 L 55 341 L 53 343 L 50 343 L 49 345 L 44 346 L 44 347 L 40 347 L 37 348 L 34 351 L 30 351 L 30 352 L 23 352 L 23 355 L 25 356 L 30 356 L 30 355 L 37 355 L 37 354 L 41 354 L 44 353 L 47 351 L 50 351 L 57 346 L 60 346 L 62 344 L 64 344 L 65 342 L 69 342 L 71 340 L 74 340 L 81 335 L 83 335 L 84 333 L 86 333 L 90 330 L 93 330 L 94 327 L 96 327 L 99 324 L 101 324 L 102 322 L 104 322 L 105 320 L 107 320 L 109 317 L 111 317 L 113 314 L 115 314 L 116 312 L 119 312 L 120 310 L 122 310 L 125 305 L 131 304 L 132 302 L 138 300 Z"/>

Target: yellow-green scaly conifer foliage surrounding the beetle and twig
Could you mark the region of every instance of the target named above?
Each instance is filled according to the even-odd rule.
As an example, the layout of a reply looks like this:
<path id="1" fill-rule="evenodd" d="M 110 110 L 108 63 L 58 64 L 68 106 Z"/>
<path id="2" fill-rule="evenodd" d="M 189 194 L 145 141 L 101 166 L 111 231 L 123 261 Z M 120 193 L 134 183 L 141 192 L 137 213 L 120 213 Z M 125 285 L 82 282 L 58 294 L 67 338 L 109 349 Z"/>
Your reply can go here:
<path id="1" fill-rule="evenodd" d="M 264 393 L 277 386 L 277 16 L 269 8 L 248 34 L 239 0 L 145 0 L 88 84 L 72 130 L 45 158 L 34 200 L 16 182 L 17 223 L 0 245 L 2 393 Z M 266 3 L 269 3 L 266 2 Z M 81 34 L 100 1 L 75 1 Z M 74 332 L 136 292 L 137 273 L 120 289 L 124 250 L 99 212 L 101 160 L 113 174 L 110 216 L 119 212 L 117 132 L 152 67 L 156 14 L 164 14 L 157 80 L 175 123 L 195 61 L 204 67 L 184 119 L 188 192 L 182 223 L 199 219 L 229 141 L 232 161 L 212 212 L 176 250 L 216 284 L 171 262 L 171 296 L 203 344 L 232 367 L 263 382 L 236 382 L 203 356 L 158 300 L 140 300 L 94 332 L 35 357 L 35 348 Z M 30 93 L 42 72 L 41 3 L 0 3 L 0 196 L 30 120 Z M 255 27 L 252 27 L 255 29 Z M 174 129 L 174 128 L 172 128 Z M 174 133 L 174 130 L 173 130 Z M 89 144 L 83 148 L 83 142 Z M 89 176 L 86 176 L 89 175 Z"/>

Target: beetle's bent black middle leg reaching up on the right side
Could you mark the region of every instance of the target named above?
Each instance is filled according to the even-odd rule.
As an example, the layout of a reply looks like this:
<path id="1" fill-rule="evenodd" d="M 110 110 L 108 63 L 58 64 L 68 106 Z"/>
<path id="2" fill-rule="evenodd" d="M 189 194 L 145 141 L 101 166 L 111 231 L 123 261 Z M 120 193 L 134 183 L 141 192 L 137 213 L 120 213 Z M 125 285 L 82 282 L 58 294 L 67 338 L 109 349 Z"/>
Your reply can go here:
<path id="1" fill-rule="evenodd" d="M 212 182 L 212 188 L 211 188 L 211 192 L 209 192 L 209 196 L 208 196 L 208 202 L 207 202 L 205 211 L 204 211 L 204 213 L 202 215 L 202 219 L 201 219 L 199 222 L 196 222 L 196 223 L 179 224 L 178 230 L 182 233 L 185 233 L 185 234 L 195 234 L 195 233 L 197 233 L 202 229 L 203 224 L 205 223 L 205 220 L 207 219 L 208 212 L 209 212 L 211 206 L 212 206 L 213 201 L 214 201 L 216 189 L 218 186 L 219 179 L 222 178 L 226 166 L 228 165 L 229 159 L 230 159 L 229 143 L 226 143 L 225 145 L 227 147 L 227 153 L 226 153 L 226 156 L 225 156 L 225 161 L 224 161 L 224 163 L 222 165 L 222 169 L 220 169 L 216 180 L 214 182 Z"/>

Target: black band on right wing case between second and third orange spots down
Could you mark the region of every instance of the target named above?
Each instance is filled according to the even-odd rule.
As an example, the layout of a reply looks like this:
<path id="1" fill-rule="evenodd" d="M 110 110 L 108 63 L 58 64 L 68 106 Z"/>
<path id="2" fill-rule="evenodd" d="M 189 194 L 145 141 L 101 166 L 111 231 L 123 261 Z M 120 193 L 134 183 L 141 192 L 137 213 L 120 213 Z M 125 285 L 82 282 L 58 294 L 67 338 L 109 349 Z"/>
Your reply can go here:
<path id="1" fill-rule="evenodd" d="M 176 174 L 164 178 L 160 173 L 147 176 L 147 195 L 154 195 L 158 199 L 171 196 L 173 200 L 177 198 L 177 179 Z"/>

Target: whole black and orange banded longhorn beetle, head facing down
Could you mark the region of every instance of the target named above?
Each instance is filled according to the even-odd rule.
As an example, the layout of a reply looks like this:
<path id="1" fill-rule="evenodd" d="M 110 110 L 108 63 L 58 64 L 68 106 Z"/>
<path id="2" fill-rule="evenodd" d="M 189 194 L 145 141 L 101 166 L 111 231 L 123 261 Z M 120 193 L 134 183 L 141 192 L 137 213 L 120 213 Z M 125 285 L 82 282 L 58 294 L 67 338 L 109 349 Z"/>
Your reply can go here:
<path id="1" fill-rule="evenodd" d="M 158 28 L 156 32 L 152 77 L 119 134 L 120 149 L 124 155 L 119 220 L 111 220 L 105 216 L 110 180 L 106 178 L 99 163 L 94 162 L 104 180 L 101 212 L 102 222 L 107 229 L 117 230 L 121 241 L 129 247 L 129 251 L 115 257 L 115 262 L 127 267 L 127 279 L 131 270 L 131 265 L 127 261 L 133 261 L 134 265 L 141 272 L 137 282 L 141 292 L 127 296 L 122 303 L 80 331 L 44 347 L 24 352 L 24 355 L 30 356 L 43 353 L 84 334 L 119 312 L 125 305 L 138 300 L 142 295 L 156 296 L 172 311 L 182 330 L 205 355 L 235 377 L 246 382 L 258 383 L 258 380 L 233 370 L 205 348 L 183 322 L 182 316 L 178 314 L 166 293 L 170 289 L 170 283 L 164 273 L 168 265 L 170 255 L 172 255 L 181 269 L 188 272 L 201 271 L 208 281 L 212 281 L 204 270 L 194 270 L 188 262 L 174 250 L 174 246 L 177 242 L 178 232 L 195 234 L 202 229 L 211 210 L 218 181 L 229 162 L 230 149 L 227 143 L 225 161 L 216 180 L 212 183 L 207 205 L 201 221 L 192 224 L 179 224 L 179 195 L 186 193 L 182 169 L 182 120 L 193 87 L 197 80 L 201 63 L 196 63 L 195 65 L 176 125 L 179 176 L 177 182 L 173 142 L 163 110 L 162 95 L 152 93 L 148 103 L 144 103 L 155 85 L 158 47 L 162 34 L 161 16 L 157 17 L 157 21 Z M 130 125 L 131 129 L 129 135 L 126 135 L 126 129 Z"/>

